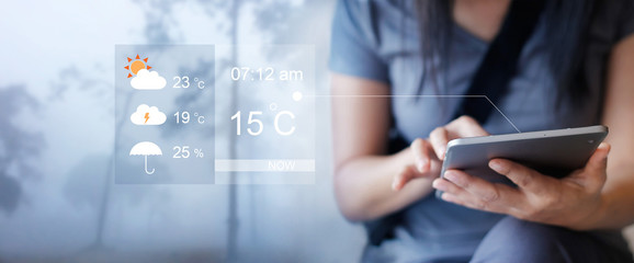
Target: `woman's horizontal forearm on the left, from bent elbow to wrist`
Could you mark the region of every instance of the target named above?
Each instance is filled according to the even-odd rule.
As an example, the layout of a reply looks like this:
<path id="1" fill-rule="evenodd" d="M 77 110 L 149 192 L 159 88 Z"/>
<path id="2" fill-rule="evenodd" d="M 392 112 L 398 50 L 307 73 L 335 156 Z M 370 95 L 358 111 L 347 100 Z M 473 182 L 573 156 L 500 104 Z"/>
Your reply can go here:
<path id="1" fill-rule="evenodd" d="M 420 178 L 403 190 L 392 183 L 408 162 L 410 149 L 393 156 L 365 156 L 341 163 L 336 171 L 335 191 L 339 208 L 352 221 L 376 219 L 397 211 L 431 193 L 431 179 Z"/>

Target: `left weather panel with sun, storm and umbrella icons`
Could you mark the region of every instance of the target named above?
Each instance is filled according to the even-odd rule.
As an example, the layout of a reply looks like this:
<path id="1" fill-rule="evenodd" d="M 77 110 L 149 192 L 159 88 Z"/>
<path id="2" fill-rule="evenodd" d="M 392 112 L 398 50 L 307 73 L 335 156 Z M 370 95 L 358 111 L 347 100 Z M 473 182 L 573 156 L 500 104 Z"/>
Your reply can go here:
<path id="1" fill-rule="evenodd" d="M 115 47 L 116 183 L 214 183 L 214 50 Z"/>

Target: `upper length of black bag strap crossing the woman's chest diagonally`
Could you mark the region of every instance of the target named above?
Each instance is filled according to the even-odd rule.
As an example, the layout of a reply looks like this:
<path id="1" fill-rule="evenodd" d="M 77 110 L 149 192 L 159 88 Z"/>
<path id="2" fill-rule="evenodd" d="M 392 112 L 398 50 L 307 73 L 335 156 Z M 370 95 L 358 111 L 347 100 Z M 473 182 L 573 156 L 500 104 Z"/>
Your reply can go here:
<path id="1" fill-rule="evenodd" d="M 487 122 L 494 110 L 490 103 L 496 104 L 507 92 L 516 75 L 520 54 L 533 34 L 545 5 L 546 0 L 511 1 L 502 26 L 490 43 L 465 93 L 486 95 L 490 102 L 480 98 L 463 98 L 452 119 L 469 115 L 480 124 Z"/>

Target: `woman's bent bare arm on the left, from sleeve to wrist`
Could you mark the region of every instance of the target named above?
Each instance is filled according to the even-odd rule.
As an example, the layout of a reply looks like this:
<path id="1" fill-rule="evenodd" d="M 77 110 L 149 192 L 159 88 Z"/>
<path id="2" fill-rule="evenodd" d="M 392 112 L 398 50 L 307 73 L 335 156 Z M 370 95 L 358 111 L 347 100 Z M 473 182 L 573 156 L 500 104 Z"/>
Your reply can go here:
<path id="1" fill-rule="evenodd" d="M 349 220 L 371 220 L 399 210 L 431 192 L 440 162 L 422 163 L 422 149 L 414 147 L 386 156 L 390 125 L 389 87 L 385 83 L 332 75 L 332 139 L 335 191 L 339 208 Z M 420 149 L 418 151 L 412 148 Z M 421 152 L 415 155 L 414 152 Z M 417 158 L 418 157 L 418 158 Z M 415 160 L 419 161 L 418 167 Z M 400 180 L 396 180 L 399 178 Z M 404 178 L 411 180 L 405 187 Z M 401 191 L 393 191 L 393 184 Z"/>

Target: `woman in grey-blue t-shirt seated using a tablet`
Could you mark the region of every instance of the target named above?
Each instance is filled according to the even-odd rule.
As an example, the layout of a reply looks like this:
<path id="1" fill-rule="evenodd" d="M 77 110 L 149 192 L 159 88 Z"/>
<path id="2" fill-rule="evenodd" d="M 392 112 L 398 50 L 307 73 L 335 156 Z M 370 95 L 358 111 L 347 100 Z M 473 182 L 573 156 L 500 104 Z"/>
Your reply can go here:
<path id="1" fill-rule="evenodd" d="M 632 0 L 547 1 L 496 103 L 522 132 L 609 126 L 585 168 L 555 180 L 491 160 L 518 188 L 454 170 L 439 179 L 449 140 L 514 132 L 496 112 L 484 124 L 451 114 L 472 100 L 453 95 L 467 92 L 510 5 L 338 2 L 330 57 L 337 202 L 351 221 L 400 218 L 363 261 L 632 262 L 620 235 L 634 222 Z M 394 134 L 409 147 L 390 153 Z M 445 192 L 442 199 L 434 190 Z"/>

